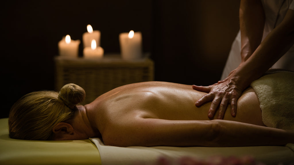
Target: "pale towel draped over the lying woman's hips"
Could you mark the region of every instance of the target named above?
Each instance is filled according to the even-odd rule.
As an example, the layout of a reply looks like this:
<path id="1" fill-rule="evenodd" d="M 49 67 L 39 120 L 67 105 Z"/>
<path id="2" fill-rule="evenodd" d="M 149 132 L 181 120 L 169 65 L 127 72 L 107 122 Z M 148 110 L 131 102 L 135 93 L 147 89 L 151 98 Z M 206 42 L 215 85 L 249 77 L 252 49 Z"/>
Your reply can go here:
<path id="1" fill-rule="evenodd" d="M 294 73 L 278 72 L 253 81 L 267 127 L 294 129 Z"/>

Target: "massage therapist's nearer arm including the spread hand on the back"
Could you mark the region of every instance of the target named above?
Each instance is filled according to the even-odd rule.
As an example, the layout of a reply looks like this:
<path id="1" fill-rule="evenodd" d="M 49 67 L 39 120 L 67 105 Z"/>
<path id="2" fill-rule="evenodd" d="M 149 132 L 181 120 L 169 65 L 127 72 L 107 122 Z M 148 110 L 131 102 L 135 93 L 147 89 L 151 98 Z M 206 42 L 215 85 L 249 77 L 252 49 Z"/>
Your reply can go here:
<path id="1" fill-rule="evenodd" d="M 231 72 L 225 80 L 208 87 L 193 85 L 195 90 L 209 92 L 196 102 L 196 106 L 213 100 L 208 116 L 213 116 L 217 107 L 220 106 L 218 118 L 222 119 L 227 105 L 231 104 L 231 114 L 235 116 L 237 100 L 242 91 L 265 73 L 293 46 L 293 20 L 294 11 L 289 9 L 283 21 L 268 34 L 253 54 Z"/>

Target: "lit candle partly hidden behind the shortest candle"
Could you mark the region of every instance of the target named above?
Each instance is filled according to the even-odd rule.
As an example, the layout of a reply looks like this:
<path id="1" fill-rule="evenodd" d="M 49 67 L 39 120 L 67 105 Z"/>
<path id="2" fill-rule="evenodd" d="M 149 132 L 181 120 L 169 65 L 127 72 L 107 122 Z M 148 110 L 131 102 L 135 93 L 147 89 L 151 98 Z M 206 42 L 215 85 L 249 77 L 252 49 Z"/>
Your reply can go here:
<path id="1" fill-rule="evenodd" d="M 87 31 L 83 33 L 83 46 L 84 48 L 86 47 L 91 47 L 91 41 L 95 40 L 96 41 L 96 47 L 100 46 L 100 36 L 101 33 L 98 30 L 94 30 L 91 25 L 87 26 Z"/>

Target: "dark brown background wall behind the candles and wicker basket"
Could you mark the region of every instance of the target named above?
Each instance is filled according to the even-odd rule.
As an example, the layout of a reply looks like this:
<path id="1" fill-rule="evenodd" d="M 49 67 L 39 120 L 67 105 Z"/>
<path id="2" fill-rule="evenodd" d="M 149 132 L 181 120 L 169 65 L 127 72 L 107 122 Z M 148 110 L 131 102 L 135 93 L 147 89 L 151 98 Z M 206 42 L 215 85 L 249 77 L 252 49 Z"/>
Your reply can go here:
<path id="1" fill-rule="evenodd" d="M 239 30 L 239 5 L 236 0 L 4 1 L 0 117 L 8 117 L 14 102 L 29 92 L 55 90 L 57 43 L 66 34 L 82 41 L 88 24 L 101 31 L 105 54 L 120 52 L 119 33 L 141 31 L 156 81 L 216 83 Z"/>

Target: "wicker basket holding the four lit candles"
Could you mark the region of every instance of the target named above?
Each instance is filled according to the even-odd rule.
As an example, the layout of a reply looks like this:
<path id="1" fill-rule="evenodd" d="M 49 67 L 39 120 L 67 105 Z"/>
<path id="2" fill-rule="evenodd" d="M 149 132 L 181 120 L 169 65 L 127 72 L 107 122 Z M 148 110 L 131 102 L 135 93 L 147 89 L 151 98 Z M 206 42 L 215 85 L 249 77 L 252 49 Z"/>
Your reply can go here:
<path id="1" fill-rule="evenodd" d="M 86 91 L 83 105 L 95 100 L 116 87 L 153 81 L 153 61 L 145 58 L 125 61 L 119 55 L 108 55 L 100 60 L 85 58 L 55 57 L 55 87 L 74 83 Z"/>

